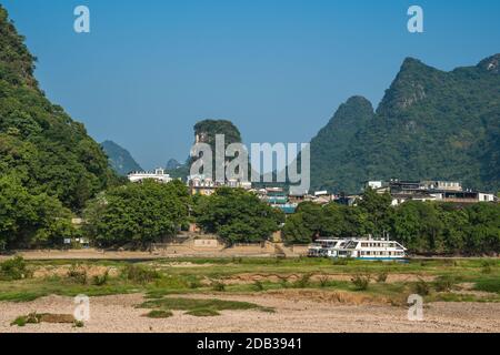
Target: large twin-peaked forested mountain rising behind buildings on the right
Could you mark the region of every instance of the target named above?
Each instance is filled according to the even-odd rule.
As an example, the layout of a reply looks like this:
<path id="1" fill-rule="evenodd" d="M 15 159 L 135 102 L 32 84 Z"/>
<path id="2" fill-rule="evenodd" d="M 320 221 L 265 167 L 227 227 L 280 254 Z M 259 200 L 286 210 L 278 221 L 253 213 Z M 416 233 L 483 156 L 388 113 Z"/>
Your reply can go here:
<path id="1" fill-rule="evenodd" d="M 311 141 L 313 189 L 440 179 L 500 190 L 500 54 L 451 72 L 404 60 L 376 112 L 352 98 Z"/>

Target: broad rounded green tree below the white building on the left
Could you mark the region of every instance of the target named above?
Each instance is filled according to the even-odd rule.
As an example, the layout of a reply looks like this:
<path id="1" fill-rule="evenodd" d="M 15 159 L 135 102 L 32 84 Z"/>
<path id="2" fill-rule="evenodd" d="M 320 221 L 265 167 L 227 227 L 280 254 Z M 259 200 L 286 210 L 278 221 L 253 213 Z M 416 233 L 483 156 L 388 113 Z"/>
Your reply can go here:
<path id="1" fill-rule="evenodd" d="M 129 183 L 110 189 L 86 209 L 86 231 L 102 246 L 148 246 L 188 222 L 189 193 L 173 181 Z"/>

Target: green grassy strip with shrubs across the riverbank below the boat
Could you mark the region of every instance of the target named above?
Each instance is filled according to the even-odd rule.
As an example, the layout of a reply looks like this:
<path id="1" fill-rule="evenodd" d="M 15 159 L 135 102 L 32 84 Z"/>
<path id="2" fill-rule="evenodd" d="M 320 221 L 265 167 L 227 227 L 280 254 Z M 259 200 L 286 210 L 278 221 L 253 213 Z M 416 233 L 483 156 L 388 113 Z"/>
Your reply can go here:
<path id="1" fill-rule="evenodd" d="M 190 263 L 176 267 L 176 263 Z M 63 275 L 32 278 L 30 273 L 38 267 L 52 271 L 70 266 Z M 108 274 L 97 277 L 84 275 L 88 266 L 107 266 L 118 270 L 118 275 Z M 256 293 L 282 288 L 321 288 L 326 292 L 343 290 L 348 292 L 380 295 L 388 298 L 400 297 L 403 293 L 421 295 L 438 293 L 457 293 L 457 282 L 473 283 L 474 290 L 499 293 L 500 261 L 490 258 L 460 260 L 412 260 L 409 263 L 366 262 L 346 260 L 333 262 L 329 258 L 263 258 L 263 257 L 219 257 L 219 258 L 166 258 L 154 262 L 123 261 L 21 261 L 11 260 L 0 280 L 0 301 L 30 302 L 38 297 L 56 294 L 76 296 L 103 296 L 113 294 L 146 293 L 148 300 L 158 300 L 167 295 L 203 294 L 213 292 Z M 248 283 L 226 282 L 241 274 L 273 277 Z M 413 282 L 392 283 L 386 278 L 391 274 L 413 275 Z M 9 275 L 9 276 L 7 276 Z M 23 276 L 24 275 L 24 276 Z M 350 281 L 330 280 L 334 275 L 371 275 L 368 288 Z M 414 282 L 416 277 L 434 277 L 427 283 Z M 211 284 L 203 283 L 212 280 Z M 259 278 L 260 280 L 260 278 Z M 224 284 L 226 283 L 226 284 Z M 357 282 L 358 283 L 358 282 Z M 420 287 L 418 292 L 414 288 Z M 362 290 L 364 288 L 364 290 Z M 426 291 L 428 288 L 428 291 Z M 452 297 L 452 296 L 444 296 Z M 466 300 L 467 297 L 464 297 Z M 206 307 L 201 307 L 206 308 Z M 169 310 L 169 308 L 166 308 Z M 189 311 L 189 310 L 188 310 Z M 217 311 L 217 310 L 216 310 Z"/>

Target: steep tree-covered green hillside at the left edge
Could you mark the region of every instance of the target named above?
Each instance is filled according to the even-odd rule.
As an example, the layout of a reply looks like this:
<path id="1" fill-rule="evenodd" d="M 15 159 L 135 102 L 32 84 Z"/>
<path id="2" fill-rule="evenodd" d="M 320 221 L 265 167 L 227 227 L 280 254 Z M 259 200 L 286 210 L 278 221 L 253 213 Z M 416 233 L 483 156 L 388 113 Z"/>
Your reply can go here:
<path id="1" fill-rule="evenodd" d="M 83 124 L 39 89 L 34 61 L 0 6 L 0 178 L 79 210 L 114 174 Z"/>

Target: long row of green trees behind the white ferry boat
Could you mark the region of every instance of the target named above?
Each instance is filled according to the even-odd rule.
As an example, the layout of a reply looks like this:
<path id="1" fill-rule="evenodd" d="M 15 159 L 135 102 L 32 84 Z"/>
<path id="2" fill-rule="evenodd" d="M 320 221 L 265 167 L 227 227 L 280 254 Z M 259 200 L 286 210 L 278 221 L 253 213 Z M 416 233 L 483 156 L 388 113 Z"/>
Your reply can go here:
<path id="1" fill-rule="evenodd" d="M 394 207 L 387 195 L 367 191 L 356 206 L 302 203 L 283 226 L 290 244 L 384 233 L 413 253 L 500 253 L 500 205 L 409 201 Z"/>

